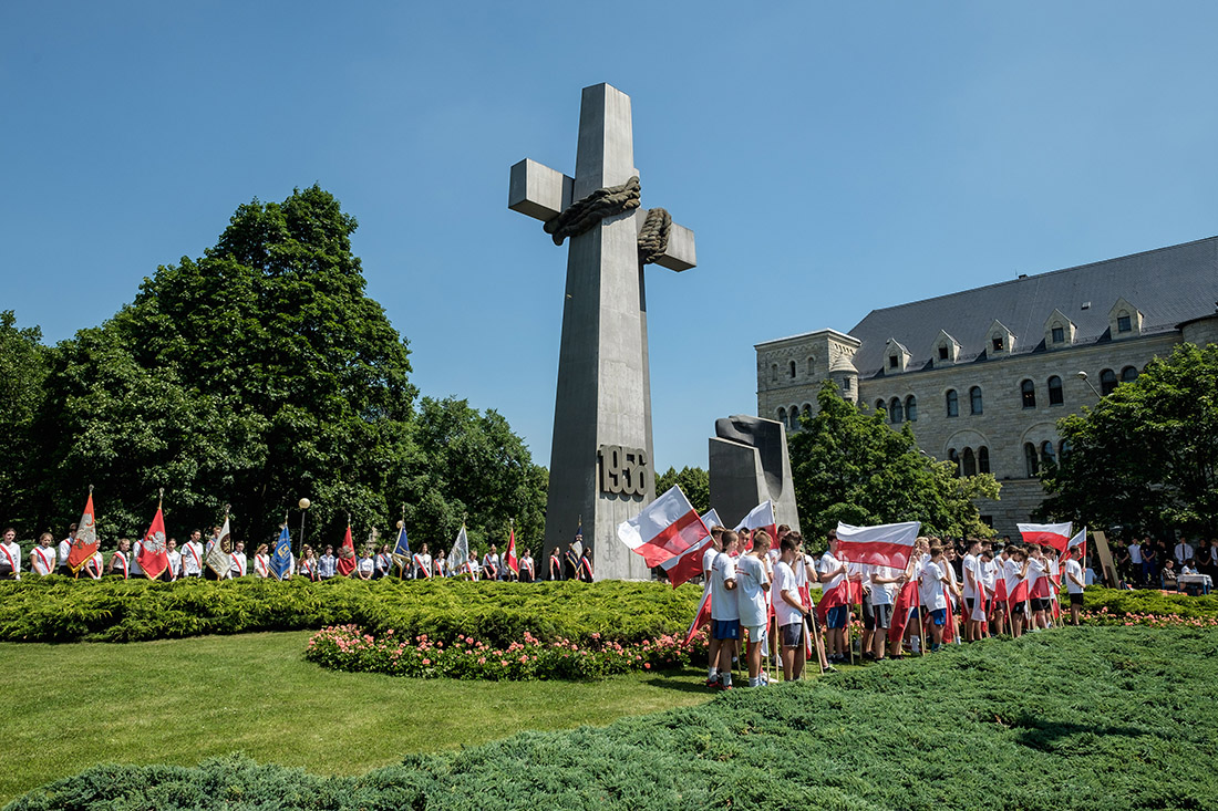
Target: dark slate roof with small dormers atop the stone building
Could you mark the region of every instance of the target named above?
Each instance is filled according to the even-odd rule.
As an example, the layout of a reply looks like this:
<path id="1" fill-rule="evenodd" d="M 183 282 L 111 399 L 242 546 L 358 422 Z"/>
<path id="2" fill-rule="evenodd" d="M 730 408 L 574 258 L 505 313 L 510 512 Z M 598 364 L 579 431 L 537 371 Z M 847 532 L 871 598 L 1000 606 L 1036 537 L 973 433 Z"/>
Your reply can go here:
<path id="1" fill-rule="evenodd" d="M 1054 309 L 1074 321 L 1075 346 L 1107 341 L 1108 312 L 1122 297 L 1141 312 L 1142 335 L 1212 314 L 1218 236 L 873 309 L 850 330 L 862 341 L 854 365 L 865 377 L 882 374 L 884 345 L 896 339 L 912 356 L 910 370 L 931 368 L 939 330 L 960 341 L 960 360 L 983 360 L 995 319 L 1015 332 L 1013 354 L 1044 351 Z M 1090 302 L 1088 309 L 1084 302 Z"/>

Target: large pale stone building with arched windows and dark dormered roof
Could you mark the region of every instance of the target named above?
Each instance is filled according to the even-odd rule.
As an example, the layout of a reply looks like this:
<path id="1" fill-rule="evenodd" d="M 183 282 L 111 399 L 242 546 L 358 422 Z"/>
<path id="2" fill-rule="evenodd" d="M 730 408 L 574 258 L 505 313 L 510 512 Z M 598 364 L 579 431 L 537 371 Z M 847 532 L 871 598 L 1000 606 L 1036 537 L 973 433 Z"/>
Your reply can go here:
<path id="1" fill-rule="evenodd" d="M 1056 423 L 1180 341 L 1218 342 L 1218 237 L 875 309 L 848 332 L 756 345 L 758 414 L 798 430 L 826 379 L 914 424 L 918 446 L 991 472 L 984 520 L 1016 535 L 1063 452 Z M 1084 377 L 1085 374 L 1085 377 Z"/>

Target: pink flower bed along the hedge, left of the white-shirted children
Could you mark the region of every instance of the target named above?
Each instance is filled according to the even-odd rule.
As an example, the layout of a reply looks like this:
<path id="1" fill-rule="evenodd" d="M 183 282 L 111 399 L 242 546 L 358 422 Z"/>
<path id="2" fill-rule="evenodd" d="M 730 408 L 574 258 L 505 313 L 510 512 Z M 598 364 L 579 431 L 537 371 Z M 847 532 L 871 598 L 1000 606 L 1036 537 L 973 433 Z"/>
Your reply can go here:
<path id="1" fill-rule="evenodd" d="M 543 642 L 526 631 L 524 642 L 498 648 L 470 636 L 445 643 L 425 633 L 402 638 L 390 628 L 375 637 L 354 625 L 341 625 L 313 634 L 304 658 L 333 670 L 417 678 L 590 679 L 685 667 L 693 654 L 705 649 L 704 639 L 702 633 L 683 645 L 678 637 L 663 634 L 624 645 L 597 633 L 585 643 L 568 638 Z"/>

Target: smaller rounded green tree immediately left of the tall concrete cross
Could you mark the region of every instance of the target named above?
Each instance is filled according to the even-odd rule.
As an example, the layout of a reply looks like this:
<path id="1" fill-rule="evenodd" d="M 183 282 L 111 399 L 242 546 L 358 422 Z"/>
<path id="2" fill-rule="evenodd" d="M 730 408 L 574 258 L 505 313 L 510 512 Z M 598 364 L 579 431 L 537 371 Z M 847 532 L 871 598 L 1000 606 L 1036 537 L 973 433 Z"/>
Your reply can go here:
<path id="1" fill-rule="evenodd" d="M 417 459 L 402 490 L 415 537 L 447 549 L 465 516 L 471 542 L 502 547 L 515 520 L 518 554 L 540 553 L 548 475 L 498 412 L 424 397 L 414 436 Z"/>

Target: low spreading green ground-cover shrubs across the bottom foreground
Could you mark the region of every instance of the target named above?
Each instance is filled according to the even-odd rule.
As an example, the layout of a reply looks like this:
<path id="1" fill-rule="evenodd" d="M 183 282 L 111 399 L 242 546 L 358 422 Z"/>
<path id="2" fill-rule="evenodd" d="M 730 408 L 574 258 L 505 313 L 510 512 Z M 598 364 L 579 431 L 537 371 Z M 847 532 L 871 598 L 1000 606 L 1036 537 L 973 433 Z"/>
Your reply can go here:
<path id="1" fill-rule="evenodd" d="M 50 809 L 1214 809 L 1212 632 L 1062 628 L 318 777 L 97 766 Z"/>

